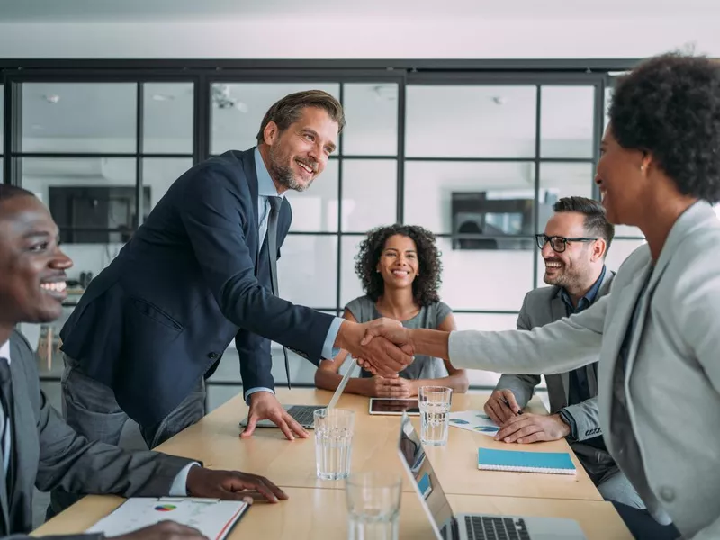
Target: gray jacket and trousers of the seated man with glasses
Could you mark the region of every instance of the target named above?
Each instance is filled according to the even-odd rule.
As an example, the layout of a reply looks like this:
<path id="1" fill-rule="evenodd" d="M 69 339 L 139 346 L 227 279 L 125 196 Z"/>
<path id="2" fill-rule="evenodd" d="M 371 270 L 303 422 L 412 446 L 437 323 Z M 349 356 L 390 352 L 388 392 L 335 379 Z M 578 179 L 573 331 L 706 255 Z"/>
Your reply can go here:
<path id="1" fill-rule="evenodd" d="M 615 274 L 605 271 L 599 290 L 593 303 L 610 292 Z M 555 320 L 567 317 L 567 307 L 563 301 L 563 289 L 558 286 L 539 287 L 525 295 L 523 307 L 518 315 L 518 330 L 531 330 L 545 326 Z M 581 368 L 582 369 L 582 368 Z M 568 405 L 570 392 L 570 372 L 545 375 L 547 393 L 550 398 L 550 412 L 566 411 L 574 420 L 573 433 L 567 437 L 572 450 L 581 464 L 598 486 L 602 496 L 608 500 L 617 500 L 635 508 L 644 508 L 644 502 L 618 470 L 617 464 L 607 450 L 597 444 L 585 444 L 583 441 L 602 437 L 598 406 L 598 363 L 584 367 L 588 379 L 590 399 Z M 507 389 L 515 394 L 520 407 L 525 407 L 533 397 L 536 386 L 540 384 L 539 374 L 503 374 L 496 390 Z M 600 445 L 601 446 L 601 445 Z"/>

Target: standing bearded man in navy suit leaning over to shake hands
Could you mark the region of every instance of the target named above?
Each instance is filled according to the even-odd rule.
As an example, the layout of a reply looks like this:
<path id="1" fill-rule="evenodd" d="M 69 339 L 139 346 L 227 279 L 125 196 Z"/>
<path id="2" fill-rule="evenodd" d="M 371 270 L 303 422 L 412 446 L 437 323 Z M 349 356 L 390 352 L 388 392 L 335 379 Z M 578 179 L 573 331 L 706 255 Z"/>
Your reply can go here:
<path id="1" fill-rule="evenodd" d="M 316 365 L 339 348 L 389 376 L 410 364 L 389 341 L 361 346 L 366 325 L 271 293 L 292 219 L 284 193 L 310 187 L 344 127 L 331 95 L 287 95 L 266 113 L 257 148 L 213 157 L 170 186 L 60 333 L 70 426 L 115 445 L 130 417 L 157 446 L 202 418 L 204 379 L 232 338 L 250 405 L 244 436 L 271 419 L 289 439 L 307 437 L 275 398 L 271 339 Z M 53 509 L 64 495 L 53 493 Z"/>

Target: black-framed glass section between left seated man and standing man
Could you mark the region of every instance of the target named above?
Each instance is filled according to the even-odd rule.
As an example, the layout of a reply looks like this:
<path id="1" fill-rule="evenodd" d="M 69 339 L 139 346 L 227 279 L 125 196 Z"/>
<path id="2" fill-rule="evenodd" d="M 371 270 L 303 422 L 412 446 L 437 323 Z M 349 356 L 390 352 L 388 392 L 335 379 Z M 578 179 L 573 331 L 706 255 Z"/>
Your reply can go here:
<path id="1" fill-rule="evenodd" d="M 22 103 L 13 107 L 20 128 L 14 174 L 48 205 L 74 262 L 60 320 L 23 325 L 45 360 L 43 372 L 58 374 L 58 330 L 85 286 L 193 165 L 194 86 L 85 79 L 23 82 L 14 92 Z"/>

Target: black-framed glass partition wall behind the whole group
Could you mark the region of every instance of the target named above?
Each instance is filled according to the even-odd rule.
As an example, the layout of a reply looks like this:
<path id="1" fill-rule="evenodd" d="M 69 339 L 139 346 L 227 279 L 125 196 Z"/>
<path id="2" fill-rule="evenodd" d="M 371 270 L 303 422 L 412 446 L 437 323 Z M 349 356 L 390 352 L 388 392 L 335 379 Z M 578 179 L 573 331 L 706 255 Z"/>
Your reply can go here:
<path id="1" fill-rule="evenodd" d="M 278 262 L 287 300 L 340 314 L 362 293 L 357 246 L 373 227 L 404 222 L 437 235 L 441 297 L 460 329 L 511 329 L 543 284 L 533 236 L 553 203 L 597 196 L 593 184 L 610 77 L 584 70 L 456 73 L 412 69 L 53 69 L 4 71 L 0 171 L 49 205 L 75 295 L 107 266 L 175 178 L 194 163 L 256 144 L 267 108 L 320 88 L 343 103 L 347 130 L 311 189 L 288 193 L 293 226 Z M 4 138 L 3 138 L 4 136 Z M 8 137 L 10 139 L 8 139 Z M 620 228 L 616 269 L 643 238 Z M 57 380 L 57 331 L 23 325 Z M 237 359 L 234 345 L 226 356 Z M 275 380 L 284 363 L 274 347 Z M 313 366 L 291 360 L 293 383 Z M 473 372 L 475 388 L 497 374 Z M 240 390 L 225 359 L 215 406 Z"/>

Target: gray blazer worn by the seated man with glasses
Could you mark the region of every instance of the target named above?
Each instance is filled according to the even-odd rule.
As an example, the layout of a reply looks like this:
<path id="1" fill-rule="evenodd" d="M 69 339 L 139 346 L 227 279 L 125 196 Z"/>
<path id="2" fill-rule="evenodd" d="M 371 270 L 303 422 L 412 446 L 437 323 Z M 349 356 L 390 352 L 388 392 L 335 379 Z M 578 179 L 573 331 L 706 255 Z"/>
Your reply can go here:
<path id="1" fill-rule="evenodd" d="M 610 284 L 612 284 L 613 277 L 614 274 L 612 272 L 609 270 L 606 271 L 594 302 L 598 302 L 602 296 L 610 292 Z M 567 310 L 561 294 L 562 289 L 555 286 L 540 287 L 527 293 L 523 307 L 518 315 L 518 330 L 531 330 L 566 317 Z M 576 437 L 570 441 L 573 449 L 586 458 L 583 464 L 590 462 L 588 463 L 590 467 L 598 465 L 604 470 L 610 465 L 615 465 L 608 453 L 594 446 L 582 445 L 580 442 L 591 437 L 598 437 L 602 434 L 597 398 L 598 377 L 596 374 L 598 363 L 595 362 L 586 365 L 585 369 L 587 370 L 588 385 L 592 397 L 590 400 L 582 401 L 574 405 L 568 405 L 570 372 L 545 376 L 547 393 L 550 397 L 550 411 L 556 413 L 558 410 L 564 409 L 572 415 L 576 425 L 576 433 L 574 434 Z M 504 374 L 500 377 L 496 389 L 507 388 L 511 390 L 515 394 L 516 400 L 518 400 L 518 405 L 525 407 L 527 401 L 530 401 L 530 398 L 533 397 L 533 393 L 539 383 L 540 375 Z"/>

